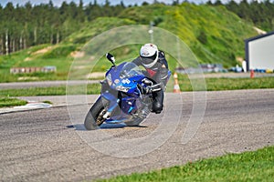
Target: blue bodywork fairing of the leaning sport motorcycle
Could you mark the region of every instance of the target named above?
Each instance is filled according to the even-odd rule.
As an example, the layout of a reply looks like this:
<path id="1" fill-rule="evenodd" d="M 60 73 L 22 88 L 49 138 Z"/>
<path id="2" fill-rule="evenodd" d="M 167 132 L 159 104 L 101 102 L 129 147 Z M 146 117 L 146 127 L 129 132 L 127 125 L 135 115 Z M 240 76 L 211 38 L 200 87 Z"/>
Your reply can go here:
<path id="1" fill-rule="evenodd" d="M 107 76 L 109 76 L 109 81 L 102 82 L 102 84 L 109 83 L 109 89 L 104 89 L 101 96 L 109 101 L 107 112 L 111 113 L 111 117 L 105 122 L 121 123 L 131 119 L 132 114 L 141 106 L 139 101 L 141 93 L 138 91 L 138 84 L 142 84 L 142 79 L 145 76 L 132 63 L 122 63 L 120 66 L 111 67 Z M 129 89 L 119 93 L 117 91 L 119 86 Z"/>

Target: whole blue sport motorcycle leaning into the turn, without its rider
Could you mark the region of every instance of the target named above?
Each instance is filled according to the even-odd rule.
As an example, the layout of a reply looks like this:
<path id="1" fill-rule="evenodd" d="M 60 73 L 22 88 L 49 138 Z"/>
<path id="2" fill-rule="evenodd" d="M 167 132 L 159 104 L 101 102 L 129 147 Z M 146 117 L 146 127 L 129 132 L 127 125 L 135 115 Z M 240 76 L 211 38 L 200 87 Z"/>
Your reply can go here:
<path id="1" fill-rule="evenodd" d="M 138 126 L 149 114 L 153 104 L 153 80 L 144 76 L 139 66 L 131 62 L 115 66 L 114 56 L 106 55 L 112 66 L 101 81 L 99 98 L 85 118 L 88 130 L 97 129 L 102 123 Z M 161 89 L 161 88 L 160 88 Z"/>

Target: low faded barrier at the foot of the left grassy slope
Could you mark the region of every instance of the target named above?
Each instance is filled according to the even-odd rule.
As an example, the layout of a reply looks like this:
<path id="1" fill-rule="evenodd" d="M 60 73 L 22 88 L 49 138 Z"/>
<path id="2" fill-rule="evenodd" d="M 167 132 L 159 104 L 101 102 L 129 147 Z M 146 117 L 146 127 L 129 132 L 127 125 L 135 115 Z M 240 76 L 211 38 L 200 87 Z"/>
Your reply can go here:
<path id="1" fill-rule="evenodd" d="M 10 68 L 11 74 L 31 74 L 36 72 L 52 73 L 56 72 L 56 66 L 44 66 L 44 67 L 12 67 Z"/>

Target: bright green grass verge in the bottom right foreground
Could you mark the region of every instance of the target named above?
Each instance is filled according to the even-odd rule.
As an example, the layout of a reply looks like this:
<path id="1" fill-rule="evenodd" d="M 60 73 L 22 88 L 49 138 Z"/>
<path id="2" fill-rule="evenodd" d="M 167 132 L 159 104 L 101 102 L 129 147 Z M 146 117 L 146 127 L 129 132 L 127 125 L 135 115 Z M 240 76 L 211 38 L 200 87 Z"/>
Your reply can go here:
<path id="1" fill-rule="evenodd" d="M 99 180 L 120 181 L 272 181 L 274 177 L 274 147 L 253 152 L 228 154 L 187 163 L 184 166 L 163 168 L 144 174 Z"/>

